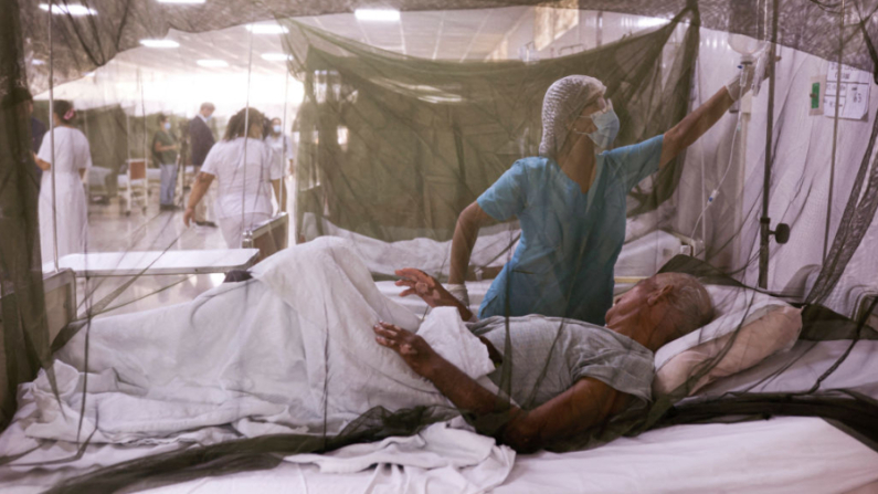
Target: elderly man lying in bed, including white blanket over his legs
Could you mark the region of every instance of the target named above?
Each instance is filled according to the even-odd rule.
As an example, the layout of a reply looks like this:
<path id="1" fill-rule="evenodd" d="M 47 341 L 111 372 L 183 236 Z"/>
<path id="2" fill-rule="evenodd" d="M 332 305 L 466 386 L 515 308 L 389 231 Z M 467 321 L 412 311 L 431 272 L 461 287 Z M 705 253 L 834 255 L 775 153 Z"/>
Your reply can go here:
<path id="1" fill-rule="evenodd" d="M 422 323 L 379 292 L 351 245 L 330 238 L 252 273 L 191 302 L 92 319 L 55 354 L 57 392 L 46 371 L 22 385 L 18 430 L 70 442 L 93 430 L 92 443 L 117 444 L 215 427 L 331 435 L 377 407 L 427 408 L 436 420 L 464 412 L 503 423 L 479 430 L 532 451 L 646 403 L 653 351 L 711 312 L 692 277 L 659 274 L 620 297 L 606 327 L 537 315 L 464 327 L 453 308 Z M 404 294 L 470 317 L 435 280 L 400 274 Z"/>

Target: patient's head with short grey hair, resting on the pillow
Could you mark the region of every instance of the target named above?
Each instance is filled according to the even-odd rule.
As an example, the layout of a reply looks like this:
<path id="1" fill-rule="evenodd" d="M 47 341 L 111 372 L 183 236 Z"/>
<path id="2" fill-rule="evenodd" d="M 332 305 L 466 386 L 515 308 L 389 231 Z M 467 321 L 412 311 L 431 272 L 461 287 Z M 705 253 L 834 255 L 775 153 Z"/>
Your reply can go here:
<path id="1" fill-rule="evenodd" d="M 712 318 L 710 294 L 698 280 L 684 273 L 659 273 L 616 298 L 606 313 L 606 325 L 613 329 L 647 330 L 645 340 L 655 350 Z"/>

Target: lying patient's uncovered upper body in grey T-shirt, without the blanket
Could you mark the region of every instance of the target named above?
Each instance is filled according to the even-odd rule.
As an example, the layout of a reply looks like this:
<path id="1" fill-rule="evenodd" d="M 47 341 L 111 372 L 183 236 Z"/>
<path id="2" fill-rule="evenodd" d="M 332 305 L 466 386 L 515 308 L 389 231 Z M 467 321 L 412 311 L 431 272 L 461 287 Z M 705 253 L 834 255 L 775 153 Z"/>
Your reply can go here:
<path id="1" fill-rule="evenodd" d="M 435 278 L 412 269 L 396 274 L 403 277 L 398 285 L 408 286 L 401 296 L 414 294 L 432 307 L 456 307 L 464 320 L 472 317 Z M 656 274 L 637 283 L 606 312 L 605 327 L 542 316 L 511 317 L 510 395 L 518 403 L 511 410 L 416 334 L 387 323 L 375 325 L 374 332 L 380 345 L 395 350 L 459 409 L 476 416 L 509 411 L 510 419 L 497 439 L 529 452 L 595 427 L 636 399 L 648 400 L 653 354 L 711 317 L 705 287 L 680 273 Z M 501 351 L 506 327 L 501 316 L 469 325 L 498 366 L 489 376 L 498 386 L 507 358 Z"/>

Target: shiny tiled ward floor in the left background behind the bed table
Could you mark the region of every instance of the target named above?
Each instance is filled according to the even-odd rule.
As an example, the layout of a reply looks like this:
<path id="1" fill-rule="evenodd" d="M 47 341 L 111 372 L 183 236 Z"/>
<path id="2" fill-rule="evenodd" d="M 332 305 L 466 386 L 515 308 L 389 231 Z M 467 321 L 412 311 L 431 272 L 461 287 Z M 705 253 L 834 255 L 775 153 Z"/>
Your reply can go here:
<path id="1" fill-rule="evenodd" d="M 294 182 L 288 186 L 287 190 L 294 190 Z M 289 203 L 295 201 L 290 199 Z M 159 210 L 158 190 L 155 188 L 146 213 L 134 208 L 130 216 L 126 216 L 118 198 L 112 198 L 106 204 L 89 202 L 87 251 L 226 249 L 220 229 L 187 228 L 182 218 L 182 210 Z M 295 231 L 292 225 L 290 231 Z M 219 285 L 223 277 L 222 273 L 216 273 L 140 276 L 137 280 L 130 276 L 80 278 L 77 313 L 84 316 L 92 312 L 95 317 L 105 317 L 178 304 Z"/>

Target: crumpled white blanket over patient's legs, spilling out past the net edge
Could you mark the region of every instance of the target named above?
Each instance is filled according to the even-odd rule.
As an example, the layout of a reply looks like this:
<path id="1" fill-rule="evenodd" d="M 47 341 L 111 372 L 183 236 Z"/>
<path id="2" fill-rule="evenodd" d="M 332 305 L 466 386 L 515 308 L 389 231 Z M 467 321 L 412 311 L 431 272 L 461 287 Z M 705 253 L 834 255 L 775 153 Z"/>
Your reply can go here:
<path id="1" fill-rule="evenodd" d="M 377 406 L 434 406 L 455 416 L 431 382 L 374 341 L 378 320 L 419 330 L 446 359 L 490 383 L 487 349 L 455 311 L 435 311 L 419 329 L 414 314 L 381 295 L 347 241 L 318 239 L 253 272 L 252 281 L 219 286 L 190 303 L 93 320 L 87 372 L 82 330 L 56 356 L 61 402 L 41 371 L 21 386 L 11 429 L 38 442 L 74 442 L 94 432 L 93 444 L 147 446 L 210 443 L 214 425 L 224 424 L 246 437 L 334 434 Z M 4 443 L 0 438 L 0 450 Z M 507 459 L 499 464 L 511 469 L 514 456 L 489 438 L 445 424 L 349 448 L 327 456 L 334 465 L 347 461 L 332 469 L 363 469 L 372 461 L 464 467 L 491 455 Z"/>

